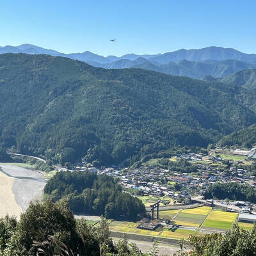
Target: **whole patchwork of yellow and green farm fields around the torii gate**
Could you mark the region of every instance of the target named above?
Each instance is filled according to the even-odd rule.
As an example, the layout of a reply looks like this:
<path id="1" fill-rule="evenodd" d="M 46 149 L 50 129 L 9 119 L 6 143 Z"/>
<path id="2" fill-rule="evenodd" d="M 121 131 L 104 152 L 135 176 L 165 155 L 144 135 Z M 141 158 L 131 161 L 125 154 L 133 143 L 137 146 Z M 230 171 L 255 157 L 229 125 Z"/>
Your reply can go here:
<path id="1" fill-rule="evenodd" d="M 142 234 L 145 236 L 188 239 L 189 234 L 211 234 L 211 232 L 221 232 L 221 230 L 232 228 L 232 225 L 237 219 L 237 215 L 238 214 L 234 212 L 216 211 L 213 210 L 212 207 L 202 206 L 193 209 L 159 211 L 160 218 L 171 220 L 171 223 L 175 225 L 187 226 L 179 227 L 176 230 L 170 230 L 163 226 L 158 227 L 154 231 L 143 230 L 137 228 L 138 223 L 128 221 L 113 221 L 110 223 L 109 229 L 111 231 Z M 253 226 L 250 223 L 240 222 L 238 225 L 247 230 L 250 230 Z"/>

